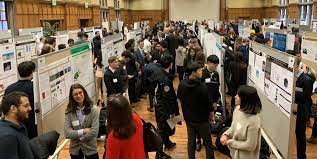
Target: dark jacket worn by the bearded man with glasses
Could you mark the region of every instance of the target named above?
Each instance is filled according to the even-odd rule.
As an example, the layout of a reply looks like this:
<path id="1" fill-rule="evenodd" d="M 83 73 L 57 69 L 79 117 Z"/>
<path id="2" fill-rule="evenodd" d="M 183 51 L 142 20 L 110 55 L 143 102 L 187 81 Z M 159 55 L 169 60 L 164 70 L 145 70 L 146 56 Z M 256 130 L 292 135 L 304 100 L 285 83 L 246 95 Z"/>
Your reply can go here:
<path id="1" fill-rule="evenodd" d="M 0 155 L 5 159 L 34 159 L 26 128 L 0 120 Z"/>

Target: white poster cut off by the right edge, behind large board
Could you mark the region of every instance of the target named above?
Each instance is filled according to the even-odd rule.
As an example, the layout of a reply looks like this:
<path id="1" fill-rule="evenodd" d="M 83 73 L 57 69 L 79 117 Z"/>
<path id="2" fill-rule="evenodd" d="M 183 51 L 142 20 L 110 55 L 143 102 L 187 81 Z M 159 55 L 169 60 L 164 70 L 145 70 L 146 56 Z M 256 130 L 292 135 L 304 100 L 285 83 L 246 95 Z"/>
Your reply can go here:
<path id="1" fill-rule="evenodd" d="M 303 37 L 302 56 L 306 60 L 317 62 L 317 38 Z"/>

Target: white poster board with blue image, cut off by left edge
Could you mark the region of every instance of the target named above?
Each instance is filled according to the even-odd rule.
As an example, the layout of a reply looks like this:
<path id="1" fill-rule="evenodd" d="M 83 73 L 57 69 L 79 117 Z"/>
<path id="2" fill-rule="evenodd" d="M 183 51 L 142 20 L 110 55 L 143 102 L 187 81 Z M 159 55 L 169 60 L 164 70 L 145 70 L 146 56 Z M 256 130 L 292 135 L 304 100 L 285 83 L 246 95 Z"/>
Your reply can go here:
<path id="1" fill-rule="evenodd" d="M 18 79 L 13 38 L 0 40 L 0 101 L 5 89 Z"/>

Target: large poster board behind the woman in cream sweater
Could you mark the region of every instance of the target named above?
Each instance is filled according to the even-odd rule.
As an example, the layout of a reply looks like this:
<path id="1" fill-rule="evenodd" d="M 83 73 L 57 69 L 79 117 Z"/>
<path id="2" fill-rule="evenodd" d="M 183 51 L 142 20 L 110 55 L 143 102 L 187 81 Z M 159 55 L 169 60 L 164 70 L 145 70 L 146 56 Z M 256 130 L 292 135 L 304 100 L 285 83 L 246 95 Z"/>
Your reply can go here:
<path id="1" fill-rule="evenodd" d="M 257 88 L 263 105 L 260 113 L 262 133 L 269 137 L 282 158 L 289 158 L 296 145 L 296 117 L 292 113 L 295 64 L 294 56 L 251 42 L 247 83 Z"/>

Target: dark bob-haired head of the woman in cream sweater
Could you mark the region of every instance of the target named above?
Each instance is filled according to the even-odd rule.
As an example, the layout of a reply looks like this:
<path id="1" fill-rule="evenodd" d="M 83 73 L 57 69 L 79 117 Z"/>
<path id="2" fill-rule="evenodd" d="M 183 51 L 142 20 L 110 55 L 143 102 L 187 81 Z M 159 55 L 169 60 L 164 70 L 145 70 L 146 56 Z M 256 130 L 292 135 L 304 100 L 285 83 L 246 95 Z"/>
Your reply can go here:
<path id="1" fill-rule="evenodd" d="M 254 87 L 242 85 L 235 96 L 235 104 L 240 105 L 240 110 L 247 114 L 258 114 L 262 109 L 260 97 Z"/>

